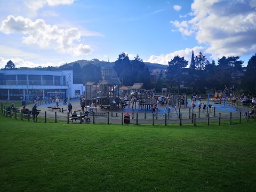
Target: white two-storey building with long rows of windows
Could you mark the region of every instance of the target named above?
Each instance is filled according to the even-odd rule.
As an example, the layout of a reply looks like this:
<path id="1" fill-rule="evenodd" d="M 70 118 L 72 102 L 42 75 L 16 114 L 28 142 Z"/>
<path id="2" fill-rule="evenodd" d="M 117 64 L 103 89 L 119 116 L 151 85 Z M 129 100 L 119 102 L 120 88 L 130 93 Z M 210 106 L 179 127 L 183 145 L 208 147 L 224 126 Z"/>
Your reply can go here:
<path id="1" fill-rule="evenodd" d="M 73 71 L 0 70 L 0 99 L 75 98 L 83 84 L 73 84 Z"/>

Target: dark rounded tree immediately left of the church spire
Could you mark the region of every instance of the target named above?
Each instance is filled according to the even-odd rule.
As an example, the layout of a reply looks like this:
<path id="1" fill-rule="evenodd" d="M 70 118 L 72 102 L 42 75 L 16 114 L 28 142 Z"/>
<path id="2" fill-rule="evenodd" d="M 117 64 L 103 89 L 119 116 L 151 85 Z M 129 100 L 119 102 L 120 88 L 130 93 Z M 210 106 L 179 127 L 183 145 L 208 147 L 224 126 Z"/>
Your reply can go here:
<path id="1" fill-rule="evenodd" d="M 180 58 L 175 56 L 171 61 L 168 62 L 166 81 L 169 84 L 178 87 L 178 94 L 180 93 L 180 85 L 186 77 L 185 67 L 188 65 L 188 61 L 184 57 Z"/>

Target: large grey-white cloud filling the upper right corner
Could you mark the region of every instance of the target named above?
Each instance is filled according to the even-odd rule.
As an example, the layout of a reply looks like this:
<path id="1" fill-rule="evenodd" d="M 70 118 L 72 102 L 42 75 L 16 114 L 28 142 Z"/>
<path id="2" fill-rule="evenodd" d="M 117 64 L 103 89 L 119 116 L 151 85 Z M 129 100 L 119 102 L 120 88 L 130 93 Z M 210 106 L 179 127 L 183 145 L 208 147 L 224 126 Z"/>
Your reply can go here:
<path id="1" fill-rule="evenodd" d="M 171 23 L 182 35 L 195 34 L 198 43 L 209 45 L 211 58 L 255 53 L 255 0 L 195 0 L 191 9 L 192 19 Z"/>

